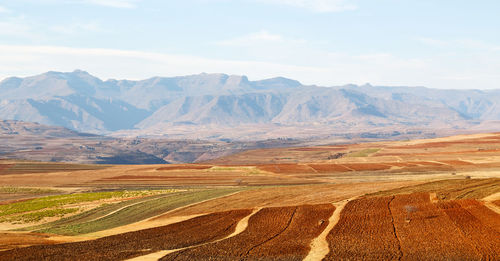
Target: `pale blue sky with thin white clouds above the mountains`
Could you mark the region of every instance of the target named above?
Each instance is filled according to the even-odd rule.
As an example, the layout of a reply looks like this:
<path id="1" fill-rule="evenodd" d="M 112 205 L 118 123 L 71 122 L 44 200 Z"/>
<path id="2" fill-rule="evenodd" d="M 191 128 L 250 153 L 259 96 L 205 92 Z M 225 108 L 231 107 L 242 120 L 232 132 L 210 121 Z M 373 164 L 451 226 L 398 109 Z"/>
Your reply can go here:
<path id="1" fill-rule="evenodd" d="M 0 79 L 206 73 L 500 89 L 498 0 L 0 0 Z"/>

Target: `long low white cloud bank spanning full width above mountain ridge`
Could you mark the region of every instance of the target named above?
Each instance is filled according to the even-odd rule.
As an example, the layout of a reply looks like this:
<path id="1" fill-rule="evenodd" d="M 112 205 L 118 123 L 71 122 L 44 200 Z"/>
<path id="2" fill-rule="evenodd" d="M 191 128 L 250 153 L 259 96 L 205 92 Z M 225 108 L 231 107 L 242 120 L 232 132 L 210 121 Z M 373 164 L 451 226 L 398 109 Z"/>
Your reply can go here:
<path id="1" fill-rule="evenodd" d="M 434 88 L 499 88 L 497 72 L 500 70 L 500 55 L 494 53 L 468 57 L 465 62 L 462 57 L 409 59 L 390 53 L 349 55 L 307 51 L 304 55 L 304 58 L 293 62 L 273 62 L 102 48 L 0 45 L 0 80 L 50 70 L 83 69 L 103 79 L 145 79 L 222 72 L 247 75 L 253 80 L 283 76 L 321 86 L 369 82 L 374 85 Z"/>

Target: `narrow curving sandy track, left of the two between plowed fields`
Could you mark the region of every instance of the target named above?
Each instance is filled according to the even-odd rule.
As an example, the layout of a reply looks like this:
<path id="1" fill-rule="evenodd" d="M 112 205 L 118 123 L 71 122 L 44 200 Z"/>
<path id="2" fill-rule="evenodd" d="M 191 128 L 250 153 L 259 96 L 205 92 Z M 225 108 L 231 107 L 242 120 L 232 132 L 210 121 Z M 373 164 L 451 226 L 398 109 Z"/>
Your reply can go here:
<path id="1" fill-rule="evenodd" d="M 186 250 L 186 249 L 190 249 L 190 248 L 195 248 L 195 247 L 199 247 L 199 246 L 204 246 L 204 245 L 207 245 L 207 244 L 217 243 L 219 241 L 226 240 L 228 238 L 237 236 L 238 234 L 240 234 L 240 233 L 242 233 L 243 231 L 246 230 L 246 228 L 248 227 L 248 220 L 253 215 L 257 214 L 257 212 L 259 212 L 261 209 L 262 209 L 262 207 L 254 208 L 253 211 L 252 211 L 252 213 L 248 214 L 248 216 L 246 216 L 246 217 L 240 219 L 240 221 L 238 221 L 238 224 L 236 225 L 236 227 L 234 229 L 234 232 L 231 233 L 230 235 L 224 237 L 224 238 L 213 240 L 213 241 L 210 241 L 210 242 L 205 242 L 205 243 L 197 244 L 197 245 L 187 246 L 187 247 L 183 247 L 183 248 L 161 250 L 161 251 L 154 252 L 154 253 L 151 253 L 151 254 L 147 254 L 147 255 L 144 255 L 144 256 L 138 256 L 138 257 L 134 257 L 134 258 L 131 258 L 131 259 L 127 259 L 126 261 L 150 261 L 150 260 L 155 260 L 156 261 L 156 260 L 159 260 L 160 258 L 162 258 L 162 257 L 164 257 L 164 256 L 166 256 L 168 254 L 171 254 L 171 253 L 175 253 L 175 252 L 179 252 L 179 251 L 182 251 L 182 250 Z"/>

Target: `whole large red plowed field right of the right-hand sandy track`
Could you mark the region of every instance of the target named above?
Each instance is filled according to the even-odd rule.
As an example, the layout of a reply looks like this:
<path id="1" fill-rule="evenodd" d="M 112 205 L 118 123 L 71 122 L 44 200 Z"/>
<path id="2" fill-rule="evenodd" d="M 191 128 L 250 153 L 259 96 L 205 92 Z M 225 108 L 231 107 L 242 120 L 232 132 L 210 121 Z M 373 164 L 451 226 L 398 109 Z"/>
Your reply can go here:
<path id="1" fill-rule="evenodd" d="M 499 260 L 500 215 L 476 200 L 428 193 L 349 202 L 327 240 L 327 260 Z"/>

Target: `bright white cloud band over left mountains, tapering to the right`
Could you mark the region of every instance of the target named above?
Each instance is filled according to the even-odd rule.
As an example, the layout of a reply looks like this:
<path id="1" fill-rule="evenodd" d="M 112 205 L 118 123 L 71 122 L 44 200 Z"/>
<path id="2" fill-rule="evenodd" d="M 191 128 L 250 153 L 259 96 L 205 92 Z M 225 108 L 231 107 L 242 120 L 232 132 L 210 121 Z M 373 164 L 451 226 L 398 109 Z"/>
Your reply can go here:
<path id="1" fill-rule="evenodd" d="M 257 78 L 326 74 L 325 68 L 255 61 L 207 59 L 142 51 L 61 46 L 0 45 L 0 79 L 49 70 L 88 70 L 102 78 L 143 79 L 200 72 L 245 74 Z"/>

